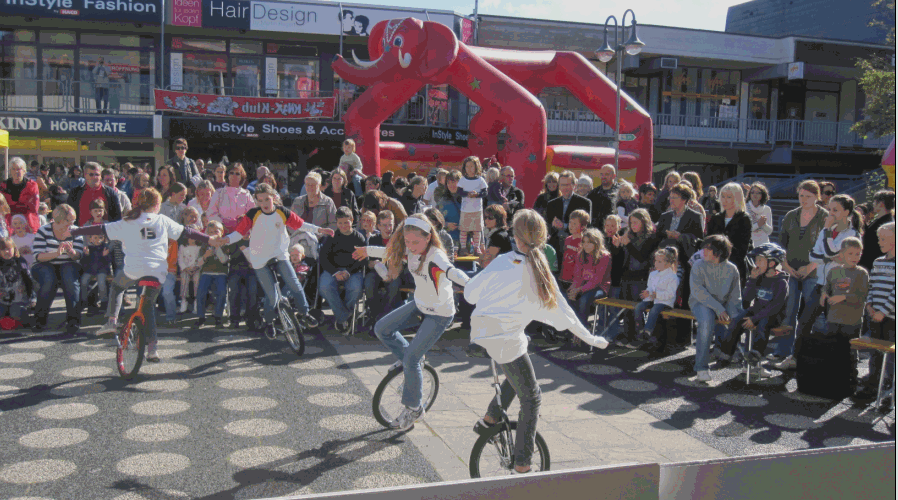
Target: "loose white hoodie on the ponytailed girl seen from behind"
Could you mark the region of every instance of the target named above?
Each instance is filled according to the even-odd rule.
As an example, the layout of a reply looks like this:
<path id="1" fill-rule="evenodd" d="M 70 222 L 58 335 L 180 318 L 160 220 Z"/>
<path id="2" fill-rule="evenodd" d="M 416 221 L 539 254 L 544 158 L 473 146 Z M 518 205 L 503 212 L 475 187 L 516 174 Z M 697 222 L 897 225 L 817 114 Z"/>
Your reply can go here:
<path id="1" fill-rule="evenodd" d="M 524 327 L 538 320 L 557 330 L 570 330 L 590 345 L 608 346 L 580 323 L 560 288 L 556 299 L 557 307 L 543 306 L 523 254 L 514 251 L 496 257 L 465 286 L 465 300 L 476 305 L 471 314 L 471 342 L 483 346 L 497 363 L 510 363 L 527 352 Z"/>

